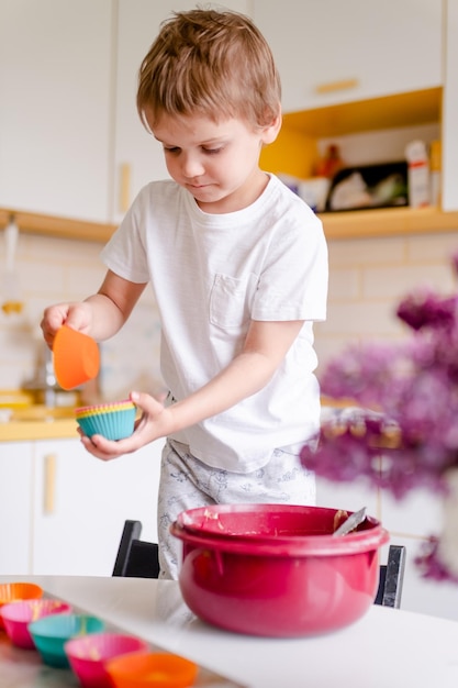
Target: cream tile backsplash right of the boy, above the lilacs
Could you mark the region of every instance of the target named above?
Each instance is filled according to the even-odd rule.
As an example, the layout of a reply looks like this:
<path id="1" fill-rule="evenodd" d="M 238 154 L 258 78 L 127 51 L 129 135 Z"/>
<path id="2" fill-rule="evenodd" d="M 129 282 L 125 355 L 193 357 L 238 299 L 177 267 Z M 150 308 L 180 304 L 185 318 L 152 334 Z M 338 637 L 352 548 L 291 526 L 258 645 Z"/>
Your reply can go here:
<path id="1" fill-rule="evenodd" d="M 320 370 L 350 343 L 393 342 L 407 329 L 396 319 L 399 300 L 411 290 L 456 290 L 450 258 L 456 232 L 329 242 L 327 320 L 315 325 Z"/>

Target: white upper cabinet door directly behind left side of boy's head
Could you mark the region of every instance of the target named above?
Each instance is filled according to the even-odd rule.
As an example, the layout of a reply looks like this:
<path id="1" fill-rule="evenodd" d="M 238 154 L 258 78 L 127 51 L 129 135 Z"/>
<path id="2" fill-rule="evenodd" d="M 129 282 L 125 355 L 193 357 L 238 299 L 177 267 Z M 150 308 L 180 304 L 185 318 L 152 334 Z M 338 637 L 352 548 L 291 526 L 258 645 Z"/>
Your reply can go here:
<path id="1" fill-rule="evenodd" d="M 224 7 L 247 12 L 248 0 L 226 0 Z M 141 188 L 168 177 L 161 146 L 146 132 L 136 111 L 137 75 L 160 23 L 172 11 L 194 9 L 194 0 L 119 0 L 116 122 L 112 221 L 119 222 Z"/>

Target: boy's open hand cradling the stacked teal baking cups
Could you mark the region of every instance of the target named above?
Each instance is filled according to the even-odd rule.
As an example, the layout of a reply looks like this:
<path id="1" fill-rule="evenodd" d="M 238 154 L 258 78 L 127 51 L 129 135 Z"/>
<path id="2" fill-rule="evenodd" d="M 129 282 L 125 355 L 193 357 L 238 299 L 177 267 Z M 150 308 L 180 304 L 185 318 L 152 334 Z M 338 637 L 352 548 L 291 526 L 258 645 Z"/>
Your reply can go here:
<path id="1" fill-rule="evenodd" d="M 171 415 L 168 408 L 160 401 L 146 393 L 132 392 L 131 400 L 142 410 L 142 417 L 135 423 L 135 430 L 125 440 L 107 440 L 102 435 L 92 435 L 91 439 L 81 433 L 85 448 L 102 460 L 111 460 L 123 454 L 131 454 L 145 444 L 165 437 L 171 431 Z"/>

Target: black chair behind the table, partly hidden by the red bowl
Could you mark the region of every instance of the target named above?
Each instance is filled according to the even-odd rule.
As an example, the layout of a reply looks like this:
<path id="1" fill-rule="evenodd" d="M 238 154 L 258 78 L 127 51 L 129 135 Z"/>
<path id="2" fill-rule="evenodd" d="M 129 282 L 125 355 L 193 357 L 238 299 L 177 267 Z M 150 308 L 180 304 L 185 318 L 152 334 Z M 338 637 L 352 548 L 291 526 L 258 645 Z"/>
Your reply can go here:
<path id="1" fill-rule="evenodd" d="M 142 523 L 125 521 L 113 576 L 158 578 L 159 547 L 154 542 L 139 540 Z M 399 608 L 404 579 L 405 547 L 390 545 L 387 564 L 380 566 L 380 580 L 375 604 Z"/>

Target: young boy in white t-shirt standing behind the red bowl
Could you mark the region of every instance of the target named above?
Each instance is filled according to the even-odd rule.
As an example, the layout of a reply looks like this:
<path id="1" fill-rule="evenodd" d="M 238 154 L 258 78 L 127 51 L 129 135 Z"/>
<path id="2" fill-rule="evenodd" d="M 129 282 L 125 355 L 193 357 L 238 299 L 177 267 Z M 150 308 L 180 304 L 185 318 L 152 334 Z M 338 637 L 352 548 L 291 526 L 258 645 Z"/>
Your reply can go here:
<path id="1" fill-rule="evenodd" d="M 177 12 L 144 58 L 137 109 L 171 179 L 146 186 L 102 252 L 97 295 L 46 309 L 49 346 L 63 323 L 112 336 L 152 282 L 161 321 L 165 403 L 142 410 L 120 442 L 82 436 L 109 460 L 167 437 L 158 524 L 160 577 L 177 578 L 177 514 L 215 502 L 314 502 L 298 457 L 320 422 L 313 321 L 324 320 L 321 222 L 259 168 L 280 130 L 280 82 L 253 22 L 235 12 Z"/>

